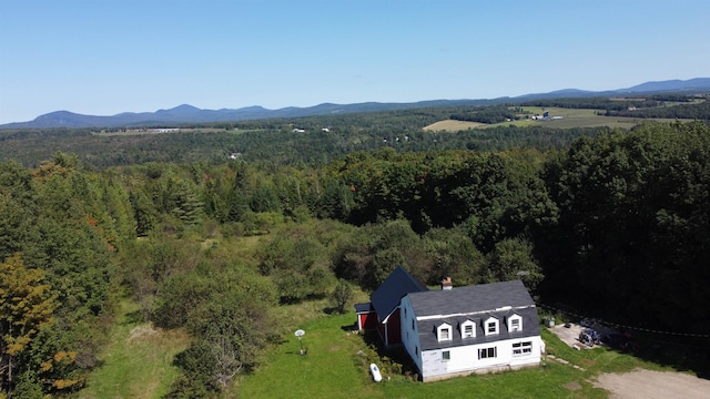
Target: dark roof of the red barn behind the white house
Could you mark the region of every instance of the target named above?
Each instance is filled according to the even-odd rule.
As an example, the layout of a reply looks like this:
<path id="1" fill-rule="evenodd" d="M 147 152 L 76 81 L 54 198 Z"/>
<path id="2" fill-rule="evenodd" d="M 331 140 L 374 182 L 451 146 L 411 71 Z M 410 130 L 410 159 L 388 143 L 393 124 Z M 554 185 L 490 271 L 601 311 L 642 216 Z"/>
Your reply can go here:
<path id="1" fill-rule="evenodd" d="M 382 323 L 397 306 L 399 299 L 409 293 L 427 291 L 428 289 L 402 266 L 397 266 L 389 276 L 369 296 L 373 307 L 377 311 L 377 319 Z"/>

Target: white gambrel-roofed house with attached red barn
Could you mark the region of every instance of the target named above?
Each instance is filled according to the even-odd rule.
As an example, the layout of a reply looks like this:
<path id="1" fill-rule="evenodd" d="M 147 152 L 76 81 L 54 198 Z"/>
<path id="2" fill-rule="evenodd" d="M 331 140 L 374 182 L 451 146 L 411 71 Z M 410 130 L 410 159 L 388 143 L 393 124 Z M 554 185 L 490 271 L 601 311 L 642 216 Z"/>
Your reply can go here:
<path id="1" fill-rule="evenodd" d="M 397 284 L 409 278 L 404 269 L 395 269 L 373 294 L 371 304 L 378 315 L 375 300 L 382 305 L 387 298 L 383 311 L 388 314 L 377 316 L 376 327 L 385 325 L 386 334 L 381 336 L 386 345 L 404 346 L 425 382 L 539 365 L 542 341 L 537 308 L 523 282 L 453 288 L 447 279 L 440 290 Z M 381 291 L 387 287 L 394 289 Z M 365 305 L 356 308 L 365 309 Z M 395 316 L 399 317 L 396 323 Z M 359 319 L 358 326 L 368 327 Z M 393 337 L 395 329 L 398 338 Z"/>

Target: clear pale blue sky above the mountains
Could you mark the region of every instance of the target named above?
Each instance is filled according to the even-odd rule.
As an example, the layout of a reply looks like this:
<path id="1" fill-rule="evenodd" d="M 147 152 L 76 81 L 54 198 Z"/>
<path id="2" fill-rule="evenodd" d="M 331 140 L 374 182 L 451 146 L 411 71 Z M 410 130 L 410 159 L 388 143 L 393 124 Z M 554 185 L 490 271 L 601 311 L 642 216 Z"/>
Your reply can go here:
<path id="1" fill-rule="evenodd" d="M 0 0 L 0 123 L 710 76 L 710 1 Z"/>

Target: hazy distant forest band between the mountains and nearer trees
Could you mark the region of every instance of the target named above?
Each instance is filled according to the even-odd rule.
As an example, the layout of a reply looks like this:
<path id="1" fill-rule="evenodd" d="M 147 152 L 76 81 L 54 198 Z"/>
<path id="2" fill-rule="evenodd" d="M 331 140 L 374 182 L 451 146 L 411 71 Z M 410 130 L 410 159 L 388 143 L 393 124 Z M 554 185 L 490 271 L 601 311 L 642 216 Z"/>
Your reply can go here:
<path id="1" fill-rule="evenodd" d="M 500 111 L 505 108 L 493 109 Z M 0 161 L 14 160 L 27 167 L 38 167 L 41 160 L 62 151 L 77 154 L 88 168 L 150 162 L 221 164 L 232 154 L 239 154 L 248 162 L 323 166 L 352 152 L 375 152 L 382 147 L 393 147 L 397 152 L 500 151 L 514 147 L 546 151 L 562 149 L 580 135 L 594 135 L 605 130 L 500 126 L 493 131 L 446 134 L 423 131 L 424 126 L 462 110 L 470 108 L 239 122 L 230 125 L 229 130 L 224 124 L 197 126 L 220 127 L 216 132 L 92 134 L 88 130 L 10 130 L 0 131 Z"/>

